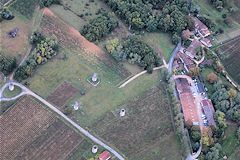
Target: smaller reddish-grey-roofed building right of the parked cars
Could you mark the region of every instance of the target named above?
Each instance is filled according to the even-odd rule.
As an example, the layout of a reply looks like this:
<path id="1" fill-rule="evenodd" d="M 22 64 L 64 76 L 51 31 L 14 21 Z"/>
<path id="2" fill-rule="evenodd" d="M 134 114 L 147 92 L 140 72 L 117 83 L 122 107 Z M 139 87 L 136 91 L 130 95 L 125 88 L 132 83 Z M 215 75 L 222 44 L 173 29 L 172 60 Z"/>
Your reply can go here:
<path id="1" fill-rule="evenodd" d="M 215 110 L 213 108 L 213 104 L 212 104 L 211 100 L 204 99 L 204 100 L 202 100 L 201 105 L 202 105 L 203 112 L 207 117 L 208 124 L 210 126 L 216 126 L 216 123 L 215 123 L 214 117 L 213 117 Z"/>

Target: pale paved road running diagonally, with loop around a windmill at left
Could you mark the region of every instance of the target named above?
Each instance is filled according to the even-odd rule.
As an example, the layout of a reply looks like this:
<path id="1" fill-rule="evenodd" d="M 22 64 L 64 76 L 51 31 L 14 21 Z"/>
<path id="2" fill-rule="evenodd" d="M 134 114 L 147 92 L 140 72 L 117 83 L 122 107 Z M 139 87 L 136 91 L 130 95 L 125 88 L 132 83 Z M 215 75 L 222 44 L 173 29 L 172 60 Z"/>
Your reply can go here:
<path id="1" fill-rule="evenodd" d="M 41 101 L 43 104 L 45 104 L 46 106 L 48 106 L 52 111 L 54 111 L 55 113 L 57 113 L 59 116 L 61 116 L 62 118 L 64 118 L 66 121 L 68 121 L 72 126 L 74 126 L 77 130 L 79 130 L 82 134 L 84 134 L 86 137 L 90 138 L 94 143 L 102 146 L 103 148 L 107 149 L 108 151 L 110 151 L 113 155 L 115 155 L 119 160 L 124 160 L 124 158 L 113 148 L 109 147 L 108 145 L 106 145 L 105 143 L 103 143 L 101 140 L 97 139 L 96 137 L 94 137 L 93 135 L 91 135 L 87 130 L 85 130 L 84 128 L 82 128 L 81 126 L 79 126 L 77 123 L 73 122 L 70 118 L 68 118 L 65 114 L 63 114 L 60 110 L 58 110 L 56 107 L 54 107 L 52 104 L 50 104 L 49 102 L 47 102 L 45 99 L 43 99 L 42 97 L 40 97 L 39 95 L 35 94 L 34 92 L 32 92 L 30 89 L 28 89 L 27 87 L 25 87 L 24 85 L 17 83 L 17 82 L 8 82 L 6 83 L 1 89 L 0 89 L 0 101 L 3 100 L 11 100 L 12 98 L 3 98 L 2 93 L 3 90 L 8 87 L 8 85 L 12 83 L 13 85 L 16 85 L 18 87 L 20 87 L 22 89 L 22 93 L 24 94 L 28 94 L 31 95 L 33 97 L 35 97 L 36 99 L 38 99 L 39 101 Z M 15 98 L 15 97 L 14 97 Z"/>

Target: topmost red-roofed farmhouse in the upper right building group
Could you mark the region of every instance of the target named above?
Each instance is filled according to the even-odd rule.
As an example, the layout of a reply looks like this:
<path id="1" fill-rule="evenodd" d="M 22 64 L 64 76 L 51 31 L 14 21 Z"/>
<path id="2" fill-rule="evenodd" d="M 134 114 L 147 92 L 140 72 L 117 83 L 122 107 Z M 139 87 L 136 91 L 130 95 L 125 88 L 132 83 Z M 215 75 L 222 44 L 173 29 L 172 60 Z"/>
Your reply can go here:
<path id="1" fill-rule="evenodd" d="M 192 17 L 195 23 L 195 31 L 200 34 L 202 37 L 207 37 L 211 34 L 208 27 L 203 24 L 198 18 Z"/>

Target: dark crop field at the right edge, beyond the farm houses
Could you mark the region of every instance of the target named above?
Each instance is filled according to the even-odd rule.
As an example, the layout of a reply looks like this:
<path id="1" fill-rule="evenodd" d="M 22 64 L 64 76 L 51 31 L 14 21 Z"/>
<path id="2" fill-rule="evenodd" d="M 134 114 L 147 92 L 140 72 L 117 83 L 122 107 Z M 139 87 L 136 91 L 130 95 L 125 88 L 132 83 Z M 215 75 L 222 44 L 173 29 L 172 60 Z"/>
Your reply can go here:
<path id="1" fill-rule="evenodd" d="M 240 36 L 219 47 L 219 56 L 230 76 L 240 84 Z"/>

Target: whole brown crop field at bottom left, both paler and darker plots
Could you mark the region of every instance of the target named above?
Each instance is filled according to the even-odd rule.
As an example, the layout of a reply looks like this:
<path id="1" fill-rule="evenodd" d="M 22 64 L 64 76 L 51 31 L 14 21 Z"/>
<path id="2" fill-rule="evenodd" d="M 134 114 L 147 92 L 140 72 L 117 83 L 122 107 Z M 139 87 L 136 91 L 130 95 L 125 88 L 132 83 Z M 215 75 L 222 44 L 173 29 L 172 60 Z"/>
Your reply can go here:
<path id="1" fill-rule="evenodd" d="M 66 159 L 83 137 L 31 97 L 1 117 L 2 159 Z"/>

